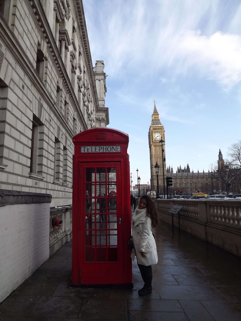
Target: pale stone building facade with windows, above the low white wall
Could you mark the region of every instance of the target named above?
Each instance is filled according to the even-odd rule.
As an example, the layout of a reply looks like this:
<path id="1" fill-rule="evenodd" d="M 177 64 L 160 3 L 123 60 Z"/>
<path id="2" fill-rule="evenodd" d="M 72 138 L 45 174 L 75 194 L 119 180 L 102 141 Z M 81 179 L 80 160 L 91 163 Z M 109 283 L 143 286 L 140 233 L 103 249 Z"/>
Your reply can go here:
<path id="1" fill-rule="evenodd" d="M 72 137 L 109 124 L 81 0 L 1 2 L 0 189 L 72 204 Z"/>

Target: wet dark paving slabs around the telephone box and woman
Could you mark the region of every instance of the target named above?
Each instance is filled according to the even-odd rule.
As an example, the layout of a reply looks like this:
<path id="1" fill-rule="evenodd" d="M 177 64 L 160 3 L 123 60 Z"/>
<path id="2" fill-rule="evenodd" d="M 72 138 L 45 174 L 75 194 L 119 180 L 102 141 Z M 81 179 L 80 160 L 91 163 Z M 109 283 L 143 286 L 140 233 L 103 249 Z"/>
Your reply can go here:
<path id="1" fill-rule="evenodd" d="M 0 321 L 241 321 L 241 258 L 170 226 L 155 229 L 153 291 L 133 264 L 132 290 L 73 288 L 71 242 L 0 304 Z"/>

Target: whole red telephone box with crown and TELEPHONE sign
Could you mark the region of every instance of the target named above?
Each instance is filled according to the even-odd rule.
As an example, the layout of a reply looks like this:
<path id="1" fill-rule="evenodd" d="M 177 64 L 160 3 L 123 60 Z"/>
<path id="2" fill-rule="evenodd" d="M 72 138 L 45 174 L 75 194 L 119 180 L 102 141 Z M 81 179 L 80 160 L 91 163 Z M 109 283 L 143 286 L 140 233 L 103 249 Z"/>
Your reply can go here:
<path id="1" fill-rule="evenodd" d="M 92 128 L 73 142 L 72 284 L 132 288 L 129 137 Z"/>

